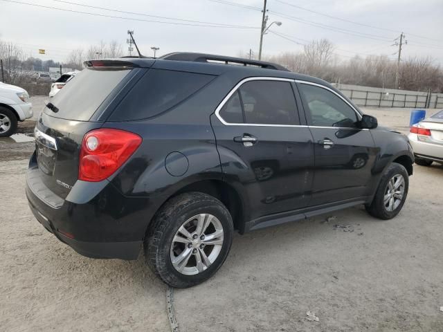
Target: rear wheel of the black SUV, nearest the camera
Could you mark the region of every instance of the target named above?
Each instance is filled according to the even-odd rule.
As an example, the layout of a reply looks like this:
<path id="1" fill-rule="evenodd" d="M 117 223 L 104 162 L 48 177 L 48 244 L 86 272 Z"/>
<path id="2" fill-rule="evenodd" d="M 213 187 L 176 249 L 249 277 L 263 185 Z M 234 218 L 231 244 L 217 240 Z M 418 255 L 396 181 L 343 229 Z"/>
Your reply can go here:
<path id="1" fill-rule="evenodd" d="M 212 277 L 228 256 L 233 221 L 218 199 L 176 196 L 157 212 L 144 241 L 145 260 L 166 284 L 186 288 Z"/>

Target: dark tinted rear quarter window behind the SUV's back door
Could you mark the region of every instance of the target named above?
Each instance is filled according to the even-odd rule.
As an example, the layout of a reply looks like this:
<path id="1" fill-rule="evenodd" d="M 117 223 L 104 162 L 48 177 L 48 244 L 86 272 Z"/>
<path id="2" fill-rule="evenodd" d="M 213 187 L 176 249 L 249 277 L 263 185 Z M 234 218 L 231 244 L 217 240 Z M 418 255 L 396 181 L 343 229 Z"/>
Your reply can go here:
<path id="1" fill-rule="evenodd" d="M 109 120 L 141 120 L 156 116 L 190 97 L 213 78 L 213 75 L 150 69 L 129 91 Z"/>

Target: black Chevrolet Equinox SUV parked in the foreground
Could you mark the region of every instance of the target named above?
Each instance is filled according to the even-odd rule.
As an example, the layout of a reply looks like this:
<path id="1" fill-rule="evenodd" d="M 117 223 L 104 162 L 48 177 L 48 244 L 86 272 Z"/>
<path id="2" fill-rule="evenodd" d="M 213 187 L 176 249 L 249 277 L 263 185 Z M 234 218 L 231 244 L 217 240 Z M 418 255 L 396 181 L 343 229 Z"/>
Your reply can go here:
<path id="1" fill-rule="evenodd" d="M 340 91 L 282 66 L 172 53 L 89 61 L 35 127 L 33 214 L 87 257 L 171 286 L 212 276 L 233 232 L 364 204 L 397 215 L 413 152 Z"/>

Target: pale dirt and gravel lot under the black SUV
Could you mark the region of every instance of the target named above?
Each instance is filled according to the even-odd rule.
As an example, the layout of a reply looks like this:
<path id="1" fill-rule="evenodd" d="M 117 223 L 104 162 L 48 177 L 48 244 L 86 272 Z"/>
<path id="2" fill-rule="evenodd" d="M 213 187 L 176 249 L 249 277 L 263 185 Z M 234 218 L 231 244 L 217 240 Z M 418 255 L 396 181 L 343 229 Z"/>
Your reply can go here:
<path id="1" fill-rule="evenodd" d="M 407 131 L 409 111 L 367 113 Z M 88 259 L 35 221 L 32 149 L 0 139 L 0 331 L 170 331 L 166 287 L 143 257 Z M 390 221 L 360 207 L 235 236 L 215 277 L 174 292 L 180 331 L 442 332 L 442 187 L 442 165 L 415 165 Z"/>

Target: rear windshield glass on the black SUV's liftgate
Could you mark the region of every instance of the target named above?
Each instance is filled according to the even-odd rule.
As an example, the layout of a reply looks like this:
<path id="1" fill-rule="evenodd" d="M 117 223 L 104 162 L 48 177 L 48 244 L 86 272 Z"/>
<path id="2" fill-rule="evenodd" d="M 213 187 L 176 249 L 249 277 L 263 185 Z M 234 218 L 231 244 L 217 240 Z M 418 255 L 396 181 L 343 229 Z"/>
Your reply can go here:
<path id="1" fill-rule="evenodd" d="M 86 68 L 51 98 L 51 103 L 59 111 L 55 113 L 45 108 L 44 112 L 55 118 L 88 121 L 129 71 L 131 70 L 120 68 Z"/>

